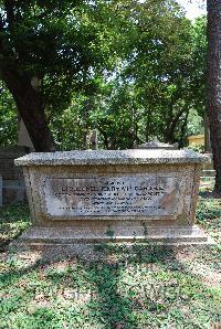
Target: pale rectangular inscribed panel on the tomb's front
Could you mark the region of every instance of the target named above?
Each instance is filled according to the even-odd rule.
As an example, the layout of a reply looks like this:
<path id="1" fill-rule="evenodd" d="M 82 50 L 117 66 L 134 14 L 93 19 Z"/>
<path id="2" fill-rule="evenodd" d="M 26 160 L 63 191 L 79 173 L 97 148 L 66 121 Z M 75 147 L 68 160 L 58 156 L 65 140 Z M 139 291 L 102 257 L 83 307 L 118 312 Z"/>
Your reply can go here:
<path id="1" fill-rule="evenodd" d="M 53 216 L 160 216 L 177 212 L 179 184 L 171 177 L 49 178 L 44 194 Z"/>

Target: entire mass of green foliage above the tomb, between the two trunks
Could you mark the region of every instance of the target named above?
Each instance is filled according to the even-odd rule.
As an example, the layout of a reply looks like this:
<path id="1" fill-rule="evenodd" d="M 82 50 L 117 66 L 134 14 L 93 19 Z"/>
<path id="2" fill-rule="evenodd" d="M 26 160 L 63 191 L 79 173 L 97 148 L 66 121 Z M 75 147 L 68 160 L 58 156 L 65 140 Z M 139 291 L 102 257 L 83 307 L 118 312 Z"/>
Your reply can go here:
<path id="1" fill-rule="evenodd" d="M 190 22 L 173 0 L 14 6 L 3 63 L 14 60 L 13 45 L 20 72 L 36 78 L 60 149 L 86 148 L 92 129 L 101 148 L 155 136 L 183 147 L 198 129 L 191 114 L 204 113 L 204 18 Z"/>

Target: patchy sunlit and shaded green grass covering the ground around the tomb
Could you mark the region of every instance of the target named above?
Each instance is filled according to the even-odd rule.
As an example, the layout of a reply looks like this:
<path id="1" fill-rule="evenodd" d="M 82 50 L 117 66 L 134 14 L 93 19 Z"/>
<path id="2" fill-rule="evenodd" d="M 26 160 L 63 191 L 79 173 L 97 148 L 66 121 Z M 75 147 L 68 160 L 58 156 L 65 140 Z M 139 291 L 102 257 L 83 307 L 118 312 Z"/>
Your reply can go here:
<path id="1" fill-rule="evenodd" d="M 219 240 L 221 201 L 201 193 L 197 217 Z M 4 243 L 29 225 L 27 206 L 1 210 Z M 1 257 L 0 328 L 215 328 L 220 247 L 101 246 L 103 257 Z M 99 251 L 101 252 L 101 251 Z M 220 327 L 217 327 L 220 328 Z"/>

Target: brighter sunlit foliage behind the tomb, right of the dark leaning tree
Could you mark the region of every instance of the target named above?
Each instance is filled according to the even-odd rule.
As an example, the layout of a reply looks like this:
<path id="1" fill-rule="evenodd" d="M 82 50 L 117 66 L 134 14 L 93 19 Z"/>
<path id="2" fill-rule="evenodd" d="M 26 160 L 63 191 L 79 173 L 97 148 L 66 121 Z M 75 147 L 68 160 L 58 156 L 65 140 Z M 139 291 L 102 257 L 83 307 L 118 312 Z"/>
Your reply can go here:
<path id="1" fill-rule="evenodd" d="M 90 129 L 98 130 L 99 147 L 106 149 L 131 148 L 155 136 L 182 147 L 190 132 L 202 129 L 206 20 L 191 23 L 173 1 L 160 1 L 160 6 L 129 1 L 116 8 L 116 17 L 120 10 L 127 19 L 119 60 L 113 72 L 96 78 L 94 95 L 83 93 L 86 107 L 73 96 L 74 123 L 65 123 L 72 136 L 76 129 L 81 135 L 78 127 L 84 127 L 74 147 L 86 147 Z"/>

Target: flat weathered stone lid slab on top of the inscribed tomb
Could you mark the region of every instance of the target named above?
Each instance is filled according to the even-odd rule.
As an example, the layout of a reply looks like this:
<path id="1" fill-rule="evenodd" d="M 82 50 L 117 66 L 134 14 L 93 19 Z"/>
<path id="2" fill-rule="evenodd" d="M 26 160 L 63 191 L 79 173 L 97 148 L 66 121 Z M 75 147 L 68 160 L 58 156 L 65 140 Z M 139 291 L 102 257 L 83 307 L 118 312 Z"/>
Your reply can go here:
<path id="1" fill-rule="evenodd" d="M 14 161 L 17 166 L 140 166 L 140 164 L 180 164 L 204 163 L 209 158 L 192 150 L 102 150 L 33 152 Z"/>

